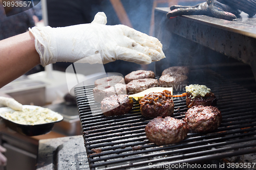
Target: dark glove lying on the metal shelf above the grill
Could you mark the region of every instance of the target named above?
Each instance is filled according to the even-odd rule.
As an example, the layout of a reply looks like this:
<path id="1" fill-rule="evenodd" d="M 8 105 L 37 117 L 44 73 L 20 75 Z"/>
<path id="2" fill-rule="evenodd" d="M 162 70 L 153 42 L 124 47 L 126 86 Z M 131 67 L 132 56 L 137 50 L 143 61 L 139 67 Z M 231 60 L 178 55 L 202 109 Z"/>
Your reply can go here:
<path id="1" fill-rule="evenodd" d="M 236 15 L 240 14 L 237 9 L 222 4 L 216 0 L 206 0 L 207 3 L 201 3 L 196 6 L 179 6 L 170 7 L 167 18 L 171 19 L 178 15 L 207 15 L 221 19 L 233 20 L 237 19 Z M 229 0 L 230 1 L 230 0 Z M 236 14 L 236 15 L 235 15 Z"/>

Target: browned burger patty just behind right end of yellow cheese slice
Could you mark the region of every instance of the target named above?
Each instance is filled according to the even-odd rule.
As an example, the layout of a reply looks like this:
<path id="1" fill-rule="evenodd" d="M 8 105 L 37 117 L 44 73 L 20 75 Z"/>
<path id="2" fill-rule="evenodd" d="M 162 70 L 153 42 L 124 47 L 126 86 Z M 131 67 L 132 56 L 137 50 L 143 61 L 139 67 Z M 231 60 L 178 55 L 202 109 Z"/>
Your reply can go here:
<path id="1" fill-rule="evenodd" d="M 188 77 L 181 74 L 162 75 L 159 78 L 159 85 L 161 87 L 173 87 L 175 91 L 182 91 L 187 85 Z"/>

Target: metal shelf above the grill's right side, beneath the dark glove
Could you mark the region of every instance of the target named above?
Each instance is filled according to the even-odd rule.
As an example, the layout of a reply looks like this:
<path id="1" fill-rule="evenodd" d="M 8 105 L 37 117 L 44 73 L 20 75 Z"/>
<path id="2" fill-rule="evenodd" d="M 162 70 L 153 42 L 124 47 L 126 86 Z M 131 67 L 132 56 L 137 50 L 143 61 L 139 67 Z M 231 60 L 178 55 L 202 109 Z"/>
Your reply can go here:
<path id="1" fill-rule="evenodd" d="M 176 34 L 216 52 L 249 64 L 256 78 L 256 16 L 241 13 L 235 21 L 204 15 L 167 19 L 169 8 L 155 9 L 155 36 L 161 41 Z M 165 43 L 163 43 L 165 45 Z"/>

